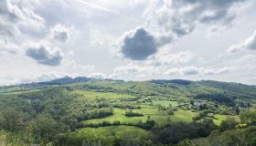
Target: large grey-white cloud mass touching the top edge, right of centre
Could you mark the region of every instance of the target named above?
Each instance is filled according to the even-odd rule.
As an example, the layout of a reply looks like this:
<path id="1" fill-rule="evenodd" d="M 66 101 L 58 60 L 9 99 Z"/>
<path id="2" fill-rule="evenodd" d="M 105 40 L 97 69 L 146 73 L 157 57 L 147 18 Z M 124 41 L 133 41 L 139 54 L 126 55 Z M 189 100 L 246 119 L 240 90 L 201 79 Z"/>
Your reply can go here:
<path id="1" fill-rule="evenodd" d="M 248 0 L 161 0 L 150 3 L 145 11 L 149 24 L 158 24 L 163 32 L 180 37 L 197 26 L 229 26 L 236 18 L 236 5 Z M 238 6 L 237 6 L 238 7 Z"/>

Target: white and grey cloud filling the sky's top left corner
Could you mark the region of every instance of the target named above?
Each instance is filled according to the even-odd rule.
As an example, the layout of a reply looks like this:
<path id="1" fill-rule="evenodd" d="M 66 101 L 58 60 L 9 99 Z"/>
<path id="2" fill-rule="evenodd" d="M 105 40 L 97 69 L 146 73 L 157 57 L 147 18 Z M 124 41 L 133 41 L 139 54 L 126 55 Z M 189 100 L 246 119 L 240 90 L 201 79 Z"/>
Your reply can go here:
<path id="1" fill-rule="evenodd" d="M 12 2 L 12 3 L 11 3 Z M 22 7 L 22 3 L 10 0 L 0 1 L 0 35 L 9 37 L 16 36 L 20 31 L 24 33 L 42 30 L 45 21 L 33 11 L 33 6 Z"/>

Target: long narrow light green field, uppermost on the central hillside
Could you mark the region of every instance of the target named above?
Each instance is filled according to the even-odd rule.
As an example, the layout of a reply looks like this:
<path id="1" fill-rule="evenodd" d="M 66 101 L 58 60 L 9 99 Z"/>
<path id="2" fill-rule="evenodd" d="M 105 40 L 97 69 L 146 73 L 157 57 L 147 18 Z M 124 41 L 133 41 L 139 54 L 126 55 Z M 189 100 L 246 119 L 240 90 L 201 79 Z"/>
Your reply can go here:
<path id="1" fill-rule="evenodd" d="M 73 93 L 79 94 L 80 99 L 129 99 L 134 98 L 128 94 L 117 94 L 113 92 L 96 92 L 88 90 L 74 90 Z"/>

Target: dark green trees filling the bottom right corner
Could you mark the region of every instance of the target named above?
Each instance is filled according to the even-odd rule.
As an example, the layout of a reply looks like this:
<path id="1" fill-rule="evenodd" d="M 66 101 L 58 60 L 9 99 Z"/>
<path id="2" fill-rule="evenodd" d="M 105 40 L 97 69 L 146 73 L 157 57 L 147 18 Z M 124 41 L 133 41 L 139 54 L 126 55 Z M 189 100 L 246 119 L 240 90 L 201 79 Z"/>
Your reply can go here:
<path id="1" fill-rule="evenodd" d="M 210 118 L 191 123 L 174 122 L 155 129 L 158 141 L 176 146 L 254 146 L 256 145 L 256 110 L 240 112 L 240 122 L 228 116 L 219 127 Z M 207 137 L 205 140 L 189 141 Z M 189 140 L 187 140 L 189 139 Z"/>

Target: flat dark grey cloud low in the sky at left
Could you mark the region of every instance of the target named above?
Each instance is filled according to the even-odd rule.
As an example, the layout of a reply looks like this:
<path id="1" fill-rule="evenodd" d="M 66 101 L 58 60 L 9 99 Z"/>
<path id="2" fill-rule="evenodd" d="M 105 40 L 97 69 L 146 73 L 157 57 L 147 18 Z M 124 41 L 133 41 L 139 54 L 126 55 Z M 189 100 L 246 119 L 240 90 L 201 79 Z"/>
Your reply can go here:
<path id="1" fill-rule="evenodd" d="M 47 44 L 29 45 L 26 54 L 37 63 L 47 66 L 59 66 L 63 58 L 63 53 L 58 47 Z"/>

